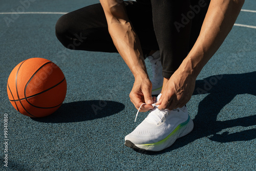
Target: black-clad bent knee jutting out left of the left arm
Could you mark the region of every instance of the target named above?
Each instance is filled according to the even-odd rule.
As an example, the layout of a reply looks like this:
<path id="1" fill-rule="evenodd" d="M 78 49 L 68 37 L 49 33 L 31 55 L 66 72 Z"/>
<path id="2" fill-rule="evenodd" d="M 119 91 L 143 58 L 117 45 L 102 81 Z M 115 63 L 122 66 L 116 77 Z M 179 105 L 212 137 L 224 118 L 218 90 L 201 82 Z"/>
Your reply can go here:
<path id="1" fill-rule="evenodd" d="M 61 16 L 55 29 L 57 38 L 68 49 L 117 52 L 100 4 Z"/>

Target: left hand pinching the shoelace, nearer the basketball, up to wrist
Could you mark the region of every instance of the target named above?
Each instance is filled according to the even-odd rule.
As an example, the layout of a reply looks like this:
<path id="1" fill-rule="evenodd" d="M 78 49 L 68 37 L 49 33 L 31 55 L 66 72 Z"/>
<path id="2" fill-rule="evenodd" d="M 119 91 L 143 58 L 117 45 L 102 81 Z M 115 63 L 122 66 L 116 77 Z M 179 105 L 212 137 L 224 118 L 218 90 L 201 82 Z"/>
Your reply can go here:
<path id="1" fill-rule="evenodd" d="M 156 97 L 152 98 L 151 91 L 152 83 L 147 77 L 135 77 L 130 98 L 137 110 L 140 108 L 141 104 L 146 103 L 145 105 L 141 106 L 140 112 L 146 112 L 154 109 L 152 104 L 153 101 L 156 101 Z"/>

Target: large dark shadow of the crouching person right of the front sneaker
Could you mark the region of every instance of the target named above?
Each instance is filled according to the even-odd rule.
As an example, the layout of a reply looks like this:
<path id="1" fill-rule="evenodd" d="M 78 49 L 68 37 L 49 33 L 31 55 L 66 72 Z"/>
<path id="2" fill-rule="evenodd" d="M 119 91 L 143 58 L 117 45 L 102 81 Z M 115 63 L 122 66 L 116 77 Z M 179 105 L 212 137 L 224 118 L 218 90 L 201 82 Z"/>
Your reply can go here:
<path id="1" fill-rule="evenodd" d="M 216 81 L 216 82 L 215 82 Z M 183 147 L 197 139 L 208 137 L 212 141 L 217 142 L 233 142 L 233 141 L 249 141 L 256 138 L 256 129 L 231 133 L 218 132 L 235 126 L 253 126 L 256 125 L 256 115 L 243 116 L 246 109 L 243 103 L 238 103 L 236 109 L 230 110 L 232 115 L 238 116 L 237 119 L 217 121 L 220 111 L 235 96 L 240 94 L 250 94 L 256 96 L 256 72 L 244 74 L 225 74 L 207 77 L 204 80 L 197 80 L 194 95 L 208 94 L 198 106 L 198 114 L 194 121 L 194 129 L 188 135 L 177 139 L 177 141 L 161 152 L 138 151 L 146 155 L 158 155 L 174 149 Z M 228 111 L 226 111 L 227 113 Z M 241 116 L 241 117 L 240 117 Z M 203 147 L 204 144 L 202 144 Z"/>

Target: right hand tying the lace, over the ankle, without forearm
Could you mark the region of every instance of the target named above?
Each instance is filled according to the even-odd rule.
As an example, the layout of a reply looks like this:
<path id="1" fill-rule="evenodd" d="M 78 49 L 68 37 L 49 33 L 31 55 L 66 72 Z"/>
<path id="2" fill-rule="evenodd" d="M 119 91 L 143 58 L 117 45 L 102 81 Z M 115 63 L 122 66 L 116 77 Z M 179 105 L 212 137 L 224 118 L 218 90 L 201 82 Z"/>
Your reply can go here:
<path id="1" fill-rule="evenodd" d="M 177 70 L 167 81 L 163 93 L 156 103 L 159 110 L 174 110 L 184 106 L 191 98 L 196 77 Z"/>

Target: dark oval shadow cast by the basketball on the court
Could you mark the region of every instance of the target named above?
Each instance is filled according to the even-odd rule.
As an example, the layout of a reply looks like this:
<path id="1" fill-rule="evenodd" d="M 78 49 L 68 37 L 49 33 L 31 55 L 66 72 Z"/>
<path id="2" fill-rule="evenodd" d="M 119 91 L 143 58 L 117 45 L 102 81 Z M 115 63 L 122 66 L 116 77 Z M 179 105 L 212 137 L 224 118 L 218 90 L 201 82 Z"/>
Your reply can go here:
<path id="1" fill-rule="evenodd" d="M 93 120 L 114 115 L 124 109 L 124 104 L 108 100 L 90 100 L 63 103 L 60 108 L 44 118 L 31 118 L 38 122 L 68 123 Z"/>

